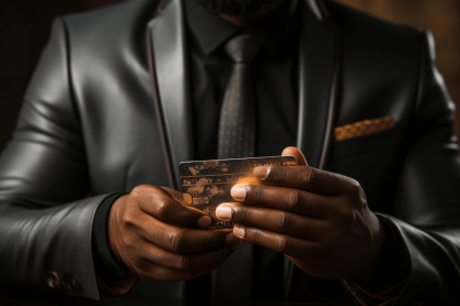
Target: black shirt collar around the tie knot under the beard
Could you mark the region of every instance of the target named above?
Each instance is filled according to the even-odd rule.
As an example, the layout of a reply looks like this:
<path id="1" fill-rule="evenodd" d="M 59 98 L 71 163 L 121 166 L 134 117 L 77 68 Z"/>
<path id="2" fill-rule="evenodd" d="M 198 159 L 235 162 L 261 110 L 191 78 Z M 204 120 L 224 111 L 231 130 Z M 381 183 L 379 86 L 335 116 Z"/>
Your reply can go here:
<path id="1" fill-rule="evenodd" d="M 296 17 L 298 0 L 288 0 L 275 12 L 245 30 L 239 30 L 217 14 L 205 11 L 195 0 L 185 0 L 188 28 L 195 35 L 205 55 L 210 55 L 230 37 L 250 34 L 263 48 L 276 57 Z"/>

